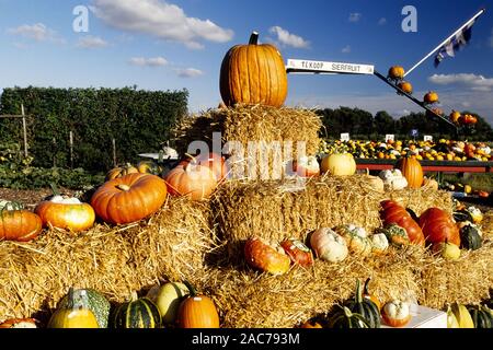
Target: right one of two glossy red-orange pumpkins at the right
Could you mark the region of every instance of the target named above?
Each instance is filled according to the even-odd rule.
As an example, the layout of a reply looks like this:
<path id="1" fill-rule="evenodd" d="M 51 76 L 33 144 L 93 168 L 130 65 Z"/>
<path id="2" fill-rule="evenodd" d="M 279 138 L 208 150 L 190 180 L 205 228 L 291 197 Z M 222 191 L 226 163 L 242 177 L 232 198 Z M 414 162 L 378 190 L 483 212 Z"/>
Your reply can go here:
<path id="1" fill-rule="evenodd" d="M 439 208 L 429 208 L 420 217 L 420 226 L 429 244 L 449 242 L 460 246 L 459 228 L 452 217 Z"/>

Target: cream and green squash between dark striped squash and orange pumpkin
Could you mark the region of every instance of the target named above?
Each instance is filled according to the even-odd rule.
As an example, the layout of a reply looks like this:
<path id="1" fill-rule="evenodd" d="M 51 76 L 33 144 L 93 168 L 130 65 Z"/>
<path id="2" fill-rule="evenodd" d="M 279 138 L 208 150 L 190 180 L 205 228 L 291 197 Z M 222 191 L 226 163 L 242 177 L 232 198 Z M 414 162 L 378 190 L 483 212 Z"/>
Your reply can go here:
<path id="1" fill-rule="evenodd" d="M 162 287 L 154 285 L 147 293 L 149 298 L 159 308 L 163 324 L 174 324 L 181 302 L 190 291 L 185 284 L 181 282 L 168 282 Z"/>

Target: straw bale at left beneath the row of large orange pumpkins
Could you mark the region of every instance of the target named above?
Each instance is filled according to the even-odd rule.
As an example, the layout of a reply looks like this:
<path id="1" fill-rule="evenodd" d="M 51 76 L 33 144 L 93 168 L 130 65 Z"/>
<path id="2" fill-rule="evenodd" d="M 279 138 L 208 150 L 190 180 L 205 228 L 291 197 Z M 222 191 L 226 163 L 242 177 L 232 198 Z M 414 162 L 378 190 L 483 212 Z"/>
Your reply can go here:
<path id="1" fill-rule="evenodd" d="M 171 199 L 147 221 L 80 235 L 49 230 L 30 243 L 0 242 L 0 319 L 46 313 L 69 287 L 113 302 L 164 280 L 195 280 L 214 249 L 208 205 Z"/>

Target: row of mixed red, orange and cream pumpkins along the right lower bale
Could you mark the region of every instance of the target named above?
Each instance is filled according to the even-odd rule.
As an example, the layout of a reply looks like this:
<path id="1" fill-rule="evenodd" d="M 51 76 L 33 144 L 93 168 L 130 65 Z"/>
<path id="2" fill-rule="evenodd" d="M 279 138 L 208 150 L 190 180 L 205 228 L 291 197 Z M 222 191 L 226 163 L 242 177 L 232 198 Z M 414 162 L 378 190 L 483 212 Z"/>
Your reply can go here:
<path id="1" fill-rule="evenodd" d="M 439 208 L 428 208 L 417 217 L 393 200 L 383 200 L 380 207 L 383 225 L 372 234 L 349 223 L 314 230 L 306 242 L 297 238 L 275 242 L 252 236 L 244 242 L 244 260 L 256 270 L 277 276 L 293 266 L 309 268 L 316 258 L 340 262 L 349 253 L 362 257 L 385 255 L 389 246 L 427 246 L 445 259 L 458 259 L 461 249 L 475 250 L 482 246 L 479 226 L 482 215 L 477 210 L 460 209 L 451 215 Z"/>

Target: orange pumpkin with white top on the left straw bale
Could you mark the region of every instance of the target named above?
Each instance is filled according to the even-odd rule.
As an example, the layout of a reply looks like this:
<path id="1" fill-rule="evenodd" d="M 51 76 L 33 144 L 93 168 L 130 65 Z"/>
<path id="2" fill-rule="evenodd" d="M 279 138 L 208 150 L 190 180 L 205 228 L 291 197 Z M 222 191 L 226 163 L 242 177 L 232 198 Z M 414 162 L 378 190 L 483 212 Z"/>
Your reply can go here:
<path id="1" fill-rule="evenodd" d="M 94 209 L 90 205 L 80 202 L 77 198 L 61 196 L 42 201 L 34 212 L 39 215 L 44 226 L 50 225 L 73 232 L 92 228 L 95 220 Z"/>

